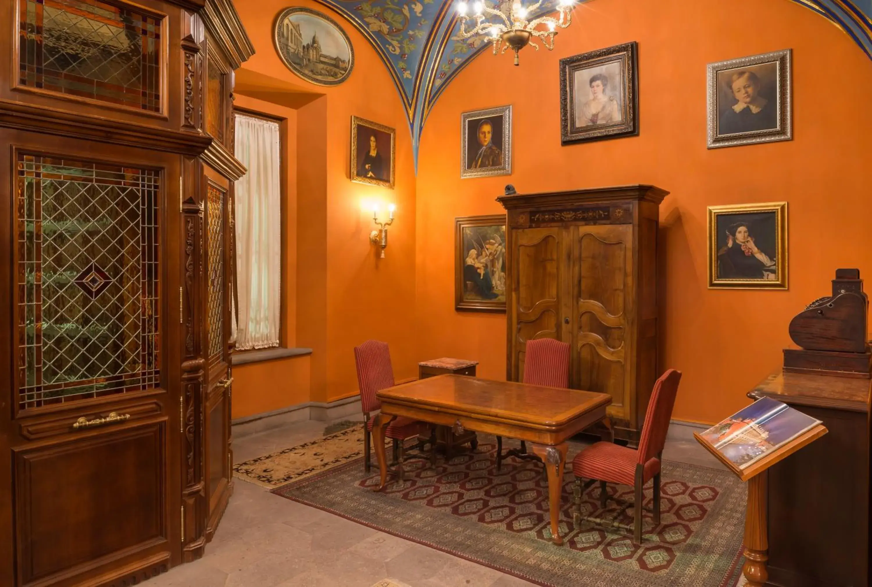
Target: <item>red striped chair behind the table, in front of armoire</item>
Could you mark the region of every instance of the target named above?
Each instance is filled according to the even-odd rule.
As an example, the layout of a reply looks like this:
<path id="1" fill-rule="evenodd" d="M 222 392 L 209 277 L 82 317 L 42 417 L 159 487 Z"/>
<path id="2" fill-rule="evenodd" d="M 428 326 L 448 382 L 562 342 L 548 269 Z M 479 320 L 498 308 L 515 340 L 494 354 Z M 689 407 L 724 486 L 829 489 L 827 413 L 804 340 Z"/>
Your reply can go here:
<path id="1" fill-rule="evenodd" d="M 524 383 L 534 386 L 569 387 L 569 344 L 554 338 L 535 338 L 527 341 L 524 354 Z M 540 461 L 527 452 L 527 443 L 521 440 L 521 450 L 510 448 L 502 453 L 502 437 L 496 437 L 496 470 L 510 456 L 528 461 Z"/>

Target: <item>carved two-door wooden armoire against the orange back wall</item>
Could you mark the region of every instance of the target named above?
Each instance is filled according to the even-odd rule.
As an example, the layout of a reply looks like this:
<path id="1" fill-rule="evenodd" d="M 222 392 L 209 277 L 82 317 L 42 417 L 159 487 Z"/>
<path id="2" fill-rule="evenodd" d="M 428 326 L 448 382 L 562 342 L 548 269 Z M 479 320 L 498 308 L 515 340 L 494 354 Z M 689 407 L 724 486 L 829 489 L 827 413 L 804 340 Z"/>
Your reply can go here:
<path id="1" fill-rule="evenodd" d="M 615 436 L 637 442 L 657 379 L 653 186 L 497 198 L 507 210 L 507 379 L 528 340 L 571 345 L 569 386 L 609 393 Z"/>

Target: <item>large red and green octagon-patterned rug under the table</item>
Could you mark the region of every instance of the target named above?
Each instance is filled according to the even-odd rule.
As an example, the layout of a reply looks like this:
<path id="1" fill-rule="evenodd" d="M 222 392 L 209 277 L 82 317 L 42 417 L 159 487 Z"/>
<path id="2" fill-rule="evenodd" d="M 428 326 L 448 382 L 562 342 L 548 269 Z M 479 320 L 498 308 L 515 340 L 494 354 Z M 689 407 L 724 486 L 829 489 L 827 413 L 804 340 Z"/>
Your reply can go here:
<path id="1" fill-rule="evenodd" d="M 644 543 L 619 529 L 589 522 L 576 528 L 570 512 L 574 477 L 567 472 L 562 499 L 562 547 L 550 543 L 547 481 L 542 466 L 506 461 L 494 467 L 495 441 L 479 435 L 475 452 L 439 461 L 405 462 L 406 480 L 378 484 L 361 459 L 276 488 L 283 495 L 474 563 L 553 587 L 735 587 L 741 571 L 746 490 L 732 474 L 664 462 L 661 523 L 645 518 Z M 575 451 L 570 449 L 570 458 Z M 609 486 L 632 501 L 633 489 Z M 651 489 L 645 492 L 651 505 Z M 582 513 L 612 519 L 618 507 L 599 508 L 598 484 L 582 496 Z M 631 523 L 632 508 L 619 520 Z"/>

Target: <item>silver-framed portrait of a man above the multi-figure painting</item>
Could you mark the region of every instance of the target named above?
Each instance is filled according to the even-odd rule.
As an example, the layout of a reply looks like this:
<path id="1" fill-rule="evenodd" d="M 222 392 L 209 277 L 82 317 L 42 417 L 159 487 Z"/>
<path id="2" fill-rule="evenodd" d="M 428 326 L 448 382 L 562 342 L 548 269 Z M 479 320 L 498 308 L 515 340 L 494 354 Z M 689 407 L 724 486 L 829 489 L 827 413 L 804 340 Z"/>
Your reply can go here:
<path id="1" fill-rule="evenodd" d="M 512 106 L 460 114 L 460 177 L 512 174 Z"/>

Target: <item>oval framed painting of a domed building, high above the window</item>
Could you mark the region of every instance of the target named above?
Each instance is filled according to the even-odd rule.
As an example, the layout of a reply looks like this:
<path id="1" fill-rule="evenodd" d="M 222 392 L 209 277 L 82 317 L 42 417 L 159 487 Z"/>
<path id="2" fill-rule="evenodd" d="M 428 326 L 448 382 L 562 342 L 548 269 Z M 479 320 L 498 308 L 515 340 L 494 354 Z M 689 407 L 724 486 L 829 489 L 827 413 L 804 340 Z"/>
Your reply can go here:
<path id="1" fill-rule="evenodd" d="M 296 16 L 308 17 L 312 19 L 312 23 L 322 24 L 324 26 L 321 31 L 322 35 L 326 31 L 330 34 L 335 33 L 337 37 L 341 38 L 348 49 L 347 63 L 343 63 L 341 55 L 322 54 L 320 43 L 317 47 L 312 46 L 311 39 L 307 34 L 310 31 L 302 31 L 300 24 L 290 21 Z M 312 31 L 313 34 L 317 34 L 317 32 Z M 293 6 L 279 12 L 276 22 L 273 24 L 273 44 L 276 46 L 276 52 L 282 59 L 282 63 L 291 72 L 313 84 L 339 85 L 348 79 L 351 70 L 354 69 L 354 46 L 351 44 L 348 33 L 335 20 L 317 10 Z M 333 70 L 339 72 L 335 78 L 317 74 L 317 72 L 331 72 Z"/>

